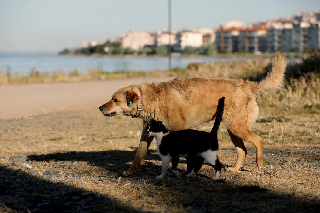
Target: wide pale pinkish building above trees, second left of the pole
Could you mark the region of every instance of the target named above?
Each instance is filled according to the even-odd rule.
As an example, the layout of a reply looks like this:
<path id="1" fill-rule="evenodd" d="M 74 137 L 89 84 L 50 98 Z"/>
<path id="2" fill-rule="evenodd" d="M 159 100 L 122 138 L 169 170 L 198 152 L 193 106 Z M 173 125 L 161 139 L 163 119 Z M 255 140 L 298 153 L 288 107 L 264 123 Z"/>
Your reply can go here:
<path id="1" fill-rule="evenodd" d="M 126 35 L 122 35 L 122 47 L 139 50 L 146 45 L 154 45 L 155 37 L 147 32 L 130 30 Z"/>

